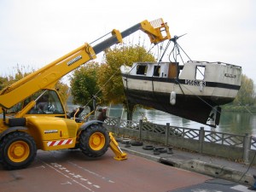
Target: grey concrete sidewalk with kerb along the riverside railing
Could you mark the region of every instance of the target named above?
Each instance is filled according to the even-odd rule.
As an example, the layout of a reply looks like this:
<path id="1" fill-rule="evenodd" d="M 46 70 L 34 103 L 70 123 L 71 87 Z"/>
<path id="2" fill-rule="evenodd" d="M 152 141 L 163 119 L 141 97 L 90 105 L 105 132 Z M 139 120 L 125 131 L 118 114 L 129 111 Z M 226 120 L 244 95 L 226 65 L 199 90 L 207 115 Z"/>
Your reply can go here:
<path id="1" fill-rule="evenodd" d="M 119 140 L 118 140 L 119 141 Z M 133 141 L 131 140 L 131 143 Z M 154 150 L 145 150 L 147 147 L 160 148 L 163 153 L 156 154 Z M 206 154 L 188 152 L 177 148 L 166 148 L 157 143 L 143 142 L 143 146 L 134 146 L 119 141 L 119 147 L 129 154 L 137 154 L 149 160 L 174 166 L 177 168 L 199 172 L 215 178 L 223 178 L 234 183 L 252 185 L 254 183 L 253 174 L 256 174 L 256 167 L 246 165 L 242 162 L 235 162 L 223 158 L 213 157 Z M 146 147 L 146 148 L 147 148 Z M 166 150 L 164 150 L 166 149 Z M 167 153 L 166 153 L 167 151 Z"/>

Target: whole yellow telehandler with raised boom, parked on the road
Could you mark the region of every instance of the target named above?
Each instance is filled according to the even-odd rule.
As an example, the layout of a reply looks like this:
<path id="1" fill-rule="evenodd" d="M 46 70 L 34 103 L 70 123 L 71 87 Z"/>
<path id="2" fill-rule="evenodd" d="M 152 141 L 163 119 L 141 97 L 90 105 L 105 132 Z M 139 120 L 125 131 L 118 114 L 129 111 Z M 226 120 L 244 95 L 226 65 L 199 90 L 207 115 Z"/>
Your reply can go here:
<path id="1" fill-rule="evenodd" d="M 153 44 L 171 38 L 162 19 L 143 20 L 124 32 L 113 30 L 93 47 L 84 44 L 0 91 L 0 161 L 5 169 L 29 166 L 38 149 L 80 148 L 89 157 L 99 157 L 110 147 L 114 159 L 126 159 L 102 121 L 68 117 L 54 87 L 61 77 L 137 30 L 146 32 Z"/>

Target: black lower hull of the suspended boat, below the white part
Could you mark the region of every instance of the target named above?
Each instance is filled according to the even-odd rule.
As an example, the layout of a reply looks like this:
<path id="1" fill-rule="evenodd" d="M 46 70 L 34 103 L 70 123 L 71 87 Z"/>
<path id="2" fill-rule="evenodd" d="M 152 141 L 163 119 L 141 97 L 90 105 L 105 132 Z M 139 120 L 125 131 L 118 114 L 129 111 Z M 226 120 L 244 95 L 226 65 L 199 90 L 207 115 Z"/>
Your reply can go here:
<path id="1" fill-rule="evenodd" d="M 207 125 L 212 108 L 217 106 L 212 102 L 212 97 L 209 96 L 199 98 L 197 96 L 177 95 L 175 105 L 170 103 L 170 94 L 167 93 L 126 89 L 125 96 L 128 102 L 133 104 L 141 104 L 205 125 Z M 218 98 L 215 99 L 218 100 Z M 221 100 L 224 100 L 224 98 L 221 98 Z M 225 102 L 232 102 L 232 100 L 231 98 L 225 98 Z M 218 112 L 220 113 L 220 108 L 218 108 Z M 218 125 L 218 123 L 219 119 L 215 124 Z"/>

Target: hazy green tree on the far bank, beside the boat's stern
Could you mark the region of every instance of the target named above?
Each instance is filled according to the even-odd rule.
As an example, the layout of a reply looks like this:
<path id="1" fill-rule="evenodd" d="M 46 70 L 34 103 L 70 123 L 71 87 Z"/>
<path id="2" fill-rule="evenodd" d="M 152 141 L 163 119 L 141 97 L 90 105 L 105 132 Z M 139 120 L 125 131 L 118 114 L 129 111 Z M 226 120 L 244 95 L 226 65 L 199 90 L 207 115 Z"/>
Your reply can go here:
<path id="1" fill-rule="evenodd" d="M 247 78 L 245 74 L 241 75 L 241 88 L 237 93 L 234 104 L 242 106 L 252 106 L 255 102 L 255 90 L 253 79 Z"/>

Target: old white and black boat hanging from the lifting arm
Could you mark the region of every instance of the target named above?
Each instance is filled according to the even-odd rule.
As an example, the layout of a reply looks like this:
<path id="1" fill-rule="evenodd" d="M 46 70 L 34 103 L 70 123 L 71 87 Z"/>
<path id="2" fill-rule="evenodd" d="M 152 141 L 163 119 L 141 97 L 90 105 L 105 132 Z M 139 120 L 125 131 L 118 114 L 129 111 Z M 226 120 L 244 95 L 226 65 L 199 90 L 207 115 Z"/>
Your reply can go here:
<path id="1" fill-rule="evenodd" d="M 133 105 L 213 127 L 219 123 L 219 106 L 234 101 L 241 86 L 241 67 L 224 63 L 135 63 L 121 67 L 121 73 L 125 96 Z"/>

